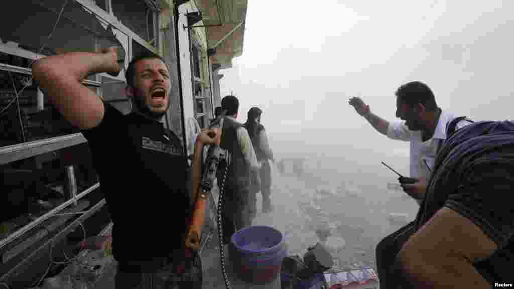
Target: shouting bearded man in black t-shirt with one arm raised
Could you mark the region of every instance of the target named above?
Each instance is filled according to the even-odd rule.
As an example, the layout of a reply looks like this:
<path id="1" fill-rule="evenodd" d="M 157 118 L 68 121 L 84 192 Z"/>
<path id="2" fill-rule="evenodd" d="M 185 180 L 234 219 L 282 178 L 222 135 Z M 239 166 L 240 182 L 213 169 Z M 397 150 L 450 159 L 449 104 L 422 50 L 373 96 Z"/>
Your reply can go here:
<path id="1" fill-rule="evenodd" d="M 214 132 L 204 130 L 197 137 L 188 177 L 180 139 L 162 121 L 170 105 L 167 65 L 153 54 L 137 56 L 128 64 L 125 93 L 133 103 L 128 115 L 81 83 L 89 75 L 116 76 L 120 70 L 117 49 L 109 48 L 43 58 L 34 64 L 33 75 L 91 147 L 114 223 L 116 288 L 199 288 L 201 269 L 183 270 L 185 235 L 196 200 L 193 180 L 200 183 L 201 147 L 214 143 L 209 137 Z"/>

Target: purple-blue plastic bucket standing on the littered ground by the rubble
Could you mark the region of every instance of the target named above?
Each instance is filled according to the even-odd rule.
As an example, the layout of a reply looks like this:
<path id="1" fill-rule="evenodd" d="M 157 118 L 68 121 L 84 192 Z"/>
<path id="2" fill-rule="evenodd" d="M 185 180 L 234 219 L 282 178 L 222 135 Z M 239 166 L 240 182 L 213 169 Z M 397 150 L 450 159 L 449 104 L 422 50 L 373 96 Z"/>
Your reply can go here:
<path id="1" fill-rule="evenodd" d="M 229 259 L 236 276 L 251 284 L 266 284 L 279 277 L 287 243 L 282 233 L 268 226 L 250 226 L 235 232 Z"/>

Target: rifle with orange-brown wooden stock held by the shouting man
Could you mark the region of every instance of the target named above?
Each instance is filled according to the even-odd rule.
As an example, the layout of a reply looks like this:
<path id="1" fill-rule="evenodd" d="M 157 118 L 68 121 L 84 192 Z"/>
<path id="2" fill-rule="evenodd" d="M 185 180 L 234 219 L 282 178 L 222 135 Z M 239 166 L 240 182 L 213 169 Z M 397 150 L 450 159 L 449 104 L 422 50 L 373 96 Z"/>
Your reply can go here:
<path id="1" fill-rule="evenodd" d="M 199 192 L 196 194 L 191 224 L 186 236 L 186 247 L 195 251 L 200 248 L 201 228 L 205 223 L 205 209 L 209 202 L 209 194 L 214 186 L 219 161 L 225 157 L 224 150 L 219 145 L 226 113 L 227 111 L 224 111 L 209 125 L 209 129 L 216 131 L 216 145 L 211 145 L 207 151 L 205 171 L 201 178 Z"/>

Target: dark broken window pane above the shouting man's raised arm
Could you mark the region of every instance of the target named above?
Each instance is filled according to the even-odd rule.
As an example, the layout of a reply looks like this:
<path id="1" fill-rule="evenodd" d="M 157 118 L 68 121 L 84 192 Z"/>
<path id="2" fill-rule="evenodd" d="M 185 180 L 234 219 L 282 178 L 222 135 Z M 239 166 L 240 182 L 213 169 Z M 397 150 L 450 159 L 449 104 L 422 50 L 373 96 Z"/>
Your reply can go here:
<path id="1" fill-rule="evenodd" d="M 113 33 L 76 1 L 14 1 L 9 9 L 0 10 L 0 17 L 10 22 L 0 26 L 4 42 L 14 42 L 22 49 L 43 55 L 93 52 L 95 39 L 107 40 L 113 46 L 118 44 Z"/>

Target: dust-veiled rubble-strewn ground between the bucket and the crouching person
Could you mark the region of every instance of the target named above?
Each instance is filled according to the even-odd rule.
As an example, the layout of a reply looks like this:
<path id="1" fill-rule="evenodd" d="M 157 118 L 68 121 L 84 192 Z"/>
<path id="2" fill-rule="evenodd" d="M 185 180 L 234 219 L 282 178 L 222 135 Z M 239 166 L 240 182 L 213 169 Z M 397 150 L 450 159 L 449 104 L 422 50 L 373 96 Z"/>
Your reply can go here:
<path id="1" fill-rule="evenodd" d="M 378 192 L 364 194 L 357 182 L 335 181 L 341 178 L 329 175 L 330 170 L 323 170 L 313 160 L 308 162 L 302 173 L 281 173 L 277 164 L 270 162 L 274 210 L 262 212 L 259 192 L 258 214 L 252 225 L 280 230 L 288 242 L 289 255 L 300 256 L 321 241 L 317 230 L 329 230 L 324 244 L 333 254 L 335 269 L 374 266 L 377 242 L 411 221 L 417 204 L 400 191 L 388 192 L 394 196 L 387 200 L 376 200 L 371 196 Z M 382 190 L 387 191 L 385 184 Z"/>

